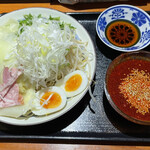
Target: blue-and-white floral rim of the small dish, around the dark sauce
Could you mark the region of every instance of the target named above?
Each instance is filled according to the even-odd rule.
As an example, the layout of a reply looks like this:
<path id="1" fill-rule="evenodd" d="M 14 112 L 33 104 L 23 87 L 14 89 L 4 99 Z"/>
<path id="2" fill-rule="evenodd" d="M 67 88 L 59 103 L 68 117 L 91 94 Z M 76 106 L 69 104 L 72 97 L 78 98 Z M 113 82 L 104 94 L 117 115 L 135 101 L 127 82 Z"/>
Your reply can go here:
<path id="1" fill-rule="evenodd" d="M 107 25 L 117 19 L 132 22 L 139 29 L 140 40 L 131 47 L 118 47 L 110 43 L 107 39 L 105 33 Z M 96 22 L 96 31 L 99 38 L 114 50 L 123 52 L 141 50 L 150 44 L 150 16 L 143 10 L 132 5 L 115 5 L 109 7 L 99 15 Z"/>

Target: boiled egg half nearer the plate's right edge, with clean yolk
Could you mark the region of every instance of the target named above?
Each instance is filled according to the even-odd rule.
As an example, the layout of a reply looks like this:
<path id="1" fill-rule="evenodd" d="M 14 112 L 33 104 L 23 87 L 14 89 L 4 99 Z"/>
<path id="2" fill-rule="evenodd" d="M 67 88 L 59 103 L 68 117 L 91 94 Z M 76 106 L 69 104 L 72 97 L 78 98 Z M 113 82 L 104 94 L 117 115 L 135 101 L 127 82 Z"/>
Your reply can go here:
<path id="1" fill-rule="evenodd" d="M 76 70 L 66 75 L 63 80 L 62 88 L 67 97 L 80 94 L 88 86 L 88 77 L 85 72 Z"/>

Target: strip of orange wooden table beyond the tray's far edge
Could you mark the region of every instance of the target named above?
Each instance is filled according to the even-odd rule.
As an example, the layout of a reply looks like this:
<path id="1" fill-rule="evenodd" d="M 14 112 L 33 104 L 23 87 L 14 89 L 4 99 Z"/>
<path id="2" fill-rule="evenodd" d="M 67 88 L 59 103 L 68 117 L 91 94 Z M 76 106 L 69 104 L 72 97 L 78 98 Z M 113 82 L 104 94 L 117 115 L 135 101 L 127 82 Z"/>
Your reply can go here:
<path id="1" fill-rule="evenodd" d="M 2 3 L 6 2 L 8 3 Z M 14 0 L 21 1 L 21 0 Z M 28 8 L 28 7 L 46 7 L 56 9 L 62 12 L 101 12 L 106 8 L 116 4 L 131 4 L 142 8 L 145 11 L 150 11 L 149 0 L 129 0 L 126 2 L 99 2 L 99 3 L 79 3 L 76 5 L 61 5 L 57 0 L 37 0 L 42 3 L 36 3 L 36 0 L 31 0 L 33 3 L 29 3 L 29 0 L 23 0 L 23 3 L 14 3 L 13 0 L 0 0 L 0 13 L 11 12 L 17 9 Z M 13 3 L 12 3 L 13 2 Z"/>

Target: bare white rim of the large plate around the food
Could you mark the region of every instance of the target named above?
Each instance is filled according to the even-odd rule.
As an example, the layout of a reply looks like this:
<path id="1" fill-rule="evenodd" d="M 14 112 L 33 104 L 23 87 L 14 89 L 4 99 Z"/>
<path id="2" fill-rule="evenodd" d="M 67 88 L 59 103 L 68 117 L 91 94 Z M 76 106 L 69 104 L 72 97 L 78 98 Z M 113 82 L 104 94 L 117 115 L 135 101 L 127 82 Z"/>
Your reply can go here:
<path id="1" fill-rule="evenodd" d="M 91 40 L 91 37 L 88 34 L 88 32 L 86 31 L 86 29 L 80 23 L 78 23 L 78 21 L 76 21 L 73 17 L 71 17 L 65 13 L 62 13 L 60 11 L 48 9 L 48 8 L 26 8 L 26 9 L 20 9 L 20 10 L 10 12 L 10 13 L 5 14 L 0 17 L 0 26 L 4 25 L 9 19 L 15 19 L 17 21 L 22 20 L 23 16 L 27 15 L 27 14 L 32 14 L 32 15 L 41 14 L 43 17 L 49 17 L 50 15 L 53 17 L 60 17 L 60 20 L 66 22 L 68 24 L 71 24 L 72 26 L 74 26 L 76 28 L 77 36 L 82 41 L 88 43 L 87 50 L 93 55 L 93 59 L 89 63 L 90 67 L 88 67 L 88 66 L 86 67 L 86 72 L 88 72 L 88 76 L 90 78 L 90 80 L 89 80 L 90 81 L 89 85 L 90 85 L 92 82 L 92 79 L 94 77 L 95 69 L 96 69 L 96 54 L 95 54 L 95 48 L 93 45 L 93 41 Z M 41 124 L 41 123 L 45 123 L 45 122 L 54 120 L 54 119 L 62 116 L 63 114 L 65 114 L 66 112 L 71 110 L 76 104 L 78 104 L 78 102 L 86 94 L 87 90 L 88 90 L 88 87 L 82 93 L 73 97 L 72 100 L 67 101 L 66 107 L 56 113 L 53 113 L 50 115 L 45 115 L 42 117 L 32 116 L 32 117 L 29 117 L 28 119 L 17 119 L 17 118 L 0 116 L 0 121 L 7 123 L 7 124 L 11 124 L 11 125 L 29 126 L 29 125 Z"/>

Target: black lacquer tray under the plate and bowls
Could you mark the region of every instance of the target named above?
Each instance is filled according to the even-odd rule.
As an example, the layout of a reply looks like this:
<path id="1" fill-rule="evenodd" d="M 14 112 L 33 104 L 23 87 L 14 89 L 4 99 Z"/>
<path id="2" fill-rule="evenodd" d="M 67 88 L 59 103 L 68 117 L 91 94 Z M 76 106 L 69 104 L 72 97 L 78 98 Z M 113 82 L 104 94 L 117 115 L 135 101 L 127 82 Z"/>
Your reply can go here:
<path id="1" fill-rule="evenodd" d="M 51 122 L 19 127 L 0 123 L 0 142 L 82 143 L 150 145 L 150 126 L 127 121 L 110 106 L 103 82 L 109 63 L 121 52 L 104 45 L 96 33 L 100 13 L 69 13 L 89 32 L 97 55 L 97 68 L 92 86 L 96 101 L 87 93 L 68 113 Z M 150 46 L 144 50 L 149 50 Z"/>

